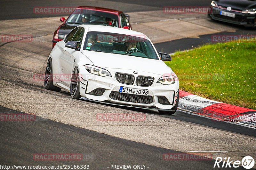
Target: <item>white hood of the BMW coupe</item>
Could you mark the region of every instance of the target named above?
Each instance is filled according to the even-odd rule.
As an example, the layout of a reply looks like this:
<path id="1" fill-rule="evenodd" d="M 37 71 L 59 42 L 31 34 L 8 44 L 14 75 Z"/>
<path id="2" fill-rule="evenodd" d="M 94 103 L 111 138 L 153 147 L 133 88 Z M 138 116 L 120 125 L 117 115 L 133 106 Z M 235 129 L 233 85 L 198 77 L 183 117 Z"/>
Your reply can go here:
<path id="1" fill-rule="evenodd" d="M 103 53 L 83 50 L 82 53 L 88 57 L 94 66 L 101 68 L 129 69 L 144 71 L 153 74 L 173 74 L 173 71 L 162 60 L 147 59 L 129 55 Z"/>

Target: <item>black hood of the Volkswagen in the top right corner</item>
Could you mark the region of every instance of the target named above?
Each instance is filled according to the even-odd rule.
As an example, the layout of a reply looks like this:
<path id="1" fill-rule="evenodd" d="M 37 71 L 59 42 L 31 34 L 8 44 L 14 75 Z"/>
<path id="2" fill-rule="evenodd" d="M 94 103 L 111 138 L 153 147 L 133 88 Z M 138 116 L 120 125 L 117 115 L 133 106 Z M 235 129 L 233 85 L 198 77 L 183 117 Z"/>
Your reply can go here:
<path id="1" fill-rule="evenodd" d="M 232 9 L 236 10 L 246 10 L 256 6 L 256 1 L 250 0 L 219 0 L 216 1 L 218 5 L 222 7 L 230 6 Z"/>

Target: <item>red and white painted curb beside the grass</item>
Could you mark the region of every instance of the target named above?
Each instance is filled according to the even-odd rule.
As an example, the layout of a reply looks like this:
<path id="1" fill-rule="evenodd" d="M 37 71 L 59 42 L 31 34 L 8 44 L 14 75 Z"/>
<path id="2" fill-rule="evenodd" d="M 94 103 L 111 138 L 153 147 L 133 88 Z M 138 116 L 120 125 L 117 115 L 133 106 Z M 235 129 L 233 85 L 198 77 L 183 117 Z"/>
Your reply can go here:
<path id="1" fill-rule="evenodd" d="M 205 99 L 182 90 L 178 108 L 217 120 L 256 127 L 256 110 Z"/>

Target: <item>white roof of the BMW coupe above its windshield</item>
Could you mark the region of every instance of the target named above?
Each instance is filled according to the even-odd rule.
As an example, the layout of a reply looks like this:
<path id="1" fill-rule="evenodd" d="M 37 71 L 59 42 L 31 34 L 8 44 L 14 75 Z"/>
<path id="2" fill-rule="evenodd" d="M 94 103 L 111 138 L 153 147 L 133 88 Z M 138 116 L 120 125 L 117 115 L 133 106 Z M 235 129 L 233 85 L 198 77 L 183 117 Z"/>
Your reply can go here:
<path id="1" fill-rule="evenodd" d="M 89 32 L 110 32 L 110 33 L 117 33 L 117 34 L 124 34 L 124 35 L 131 35 L 135 37 L 140 37 L 144 39 L 150 40 L 145 34 L 137 31 L 132 31 L 124 28 L 106 26 L 106 25 L 79 25 L 80 27 L 84 27 L 85 29 L 89 29 Z"/>

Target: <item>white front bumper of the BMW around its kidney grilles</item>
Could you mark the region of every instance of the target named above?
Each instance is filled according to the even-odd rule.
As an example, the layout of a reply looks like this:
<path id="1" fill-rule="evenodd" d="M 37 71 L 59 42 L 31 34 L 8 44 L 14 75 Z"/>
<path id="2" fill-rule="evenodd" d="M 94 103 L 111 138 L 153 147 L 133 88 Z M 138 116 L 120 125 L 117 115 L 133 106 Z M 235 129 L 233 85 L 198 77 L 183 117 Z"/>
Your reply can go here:
<path id="1" fill-rule="evenodd" d="M 177 96 L 179 93 L 179 81 L 175 81 L 174 84 L 170 85 L 163 85 L 161 83 L 157 83 L 158 79 L 163 77 L 159 74 L 152 74 L 148 72 L 141 72 L 140 75 L 143 76 L 149 76 L 154 77 L 155 80 L 151 86 L 142 87 L 137 86 L 134 82 L 132 85 L 123 84 L 116 80 L 115 73 L 122 72 L 126 74 L 132 74 L 136 78 L 138 74 L 134 74 L 134 70 L 125 70 L 125 69 L 114 69 L 114 68 L 108 68 L 107 69 L 112 77 L 106 76 L 101 77 L 98 75 L 94 75 L 91 73 L 88 73 L 84 66 L 80 67 L 80 95 L 84 98 L 90 99 L 92 101 L 101 101 L 101 102 L 107 102 L 107 103 L 116 103 L 120 105 L 126 105 L 126 106 L 134 106 L 134 107 L 142 107 L 142 108 L 151 108 L 151 109 L 163 109 L 163 110 L 169 110 L 175 106 L 177 101 Z M 133 95 L 133 94 L 125 94 L 120 93 L 119 88 L 122 87 L 128 87 L 128 88 L 134 88 L 134 89 L 147 89 L 149 90 L 148 96 L 142 96 L 142 95 Z M 103 93 L 100 95 L 95 94 L 89 94 L 95 89 L 104 89 Z M 113 95 L 115 93 L 115 95 Z M 117 96 L 118 97 L 113 97 Z M 158 96 L 164 96 L 169 103 L 163 104 L 159 103 Z"/>

